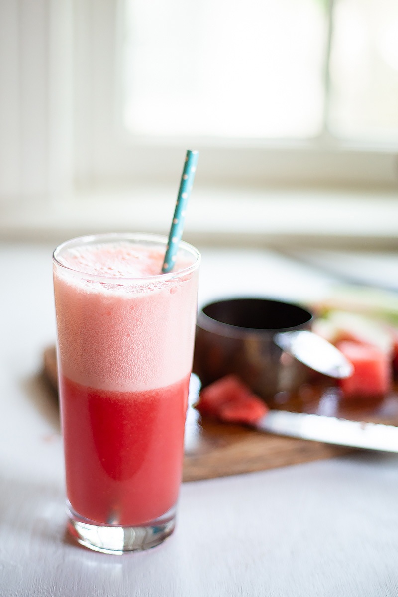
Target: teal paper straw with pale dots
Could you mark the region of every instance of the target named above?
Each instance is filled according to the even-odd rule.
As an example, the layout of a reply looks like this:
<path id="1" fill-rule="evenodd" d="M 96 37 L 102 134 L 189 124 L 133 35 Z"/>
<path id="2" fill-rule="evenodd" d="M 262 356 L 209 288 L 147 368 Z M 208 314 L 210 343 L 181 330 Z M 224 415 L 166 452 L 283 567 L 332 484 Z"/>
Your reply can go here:
<path id="1" fill-rule="evenodd" d="M 181 176 L 180 189 L 178 189 L 177 203 L 175 204 L 174 217 L 171 223 L 165 260 L 163 261 L 162 273 L 171 272 L 175 260 L 177 259 L 177 251 L 180 245 L 181 236 L 183 235 L 186 208 L 192 190 L 198 158 L 198 151 L 187 151 L 184 170 Z"/>

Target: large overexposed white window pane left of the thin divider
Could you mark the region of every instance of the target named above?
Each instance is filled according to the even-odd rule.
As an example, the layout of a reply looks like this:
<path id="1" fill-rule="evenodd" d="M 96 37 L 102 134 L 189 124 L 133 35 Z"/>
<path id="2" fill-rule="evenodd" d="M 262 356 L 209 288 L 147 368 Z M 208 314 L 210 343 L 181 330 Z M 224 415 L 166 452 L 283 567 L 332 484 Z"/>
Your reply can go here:
<path id="1" fill-rule="evenodd" d="M 134 134 L 310 137 L 322 128 L 321 0 L 127 0 Z"/>

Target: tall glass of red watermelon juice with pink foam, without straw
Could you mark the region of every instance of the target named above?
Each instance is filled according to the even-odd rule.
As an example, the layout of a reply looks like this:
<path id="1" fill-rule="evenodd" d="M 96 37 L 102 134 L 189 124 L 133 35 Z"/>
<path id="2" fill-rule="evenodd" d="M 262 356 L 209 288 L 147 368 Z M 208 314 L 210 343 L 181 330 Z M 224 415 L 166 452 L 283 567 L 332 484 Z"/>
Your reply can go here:
<path id="1" fill-rule="evenodd" d="M 104 552 L 174 528 L 200 256 L 181 242 L 97 235 L 54 251 L 58 378 L 70 530 Z"/>

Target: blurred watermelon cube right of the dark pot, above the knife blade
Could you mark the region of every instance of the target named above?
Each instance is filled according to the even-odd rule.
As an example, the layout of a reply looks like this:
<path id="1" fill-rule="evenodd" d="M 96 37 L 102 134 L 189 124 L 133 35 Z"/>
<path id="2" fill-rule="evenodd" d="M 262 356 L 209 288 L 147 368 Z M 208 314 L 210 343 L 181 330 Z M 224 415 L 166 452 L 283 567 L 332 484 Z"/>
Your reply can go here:
<path id="1" fill-rule="evenodd" d="M 391 360 L 385 352 L 368 344 L 349 341 L 338 342 L 337 348 L 354 366 L 351 377 L 339 380 L 346 398 L 377 396 L 391 389 Z"/>

